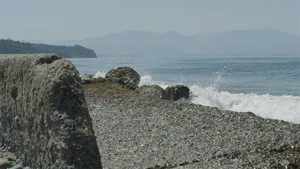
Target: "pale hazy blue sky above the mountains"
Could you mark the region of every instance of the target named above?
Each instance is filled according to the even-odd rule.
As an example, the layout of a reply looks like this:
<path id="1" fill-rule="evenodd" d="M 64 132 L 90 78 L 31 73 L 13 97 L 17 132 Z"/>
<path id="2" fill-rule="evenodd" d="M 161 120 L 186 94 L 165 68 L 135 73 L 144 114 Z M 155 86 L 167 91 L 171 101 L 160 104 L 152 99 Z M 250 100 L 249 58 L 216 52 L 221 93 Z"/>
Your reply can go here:
<path id="1" fill-rule="evenodd" d="M 123 31 L 202 32 L 272 28 L 299 35 L 295 1 L 5 1 L 0 37 L 54 42 Z"/>

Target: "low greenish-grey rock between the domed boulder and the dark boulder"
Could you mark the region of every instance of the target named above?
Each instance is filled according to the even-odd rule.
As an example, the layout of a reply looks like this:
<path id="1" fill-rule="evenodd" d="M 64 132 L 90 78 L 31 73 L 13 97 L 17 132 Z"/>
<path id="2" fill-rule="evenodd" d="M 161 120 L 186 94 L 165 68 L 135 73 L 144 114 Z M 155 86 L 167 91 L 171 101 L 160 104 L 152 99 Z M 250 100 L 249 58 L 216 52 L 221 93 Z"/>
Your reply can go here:
<path id="1" fill-rule="evenodd" d="M 159 87 L 158 85 L 143 85 L 141 87 L 138 87 L 135 92 L 143 95 L 152 95 L 160 99 L 170 100 L 169 95 L 166 93 L 166 91 Z"/>

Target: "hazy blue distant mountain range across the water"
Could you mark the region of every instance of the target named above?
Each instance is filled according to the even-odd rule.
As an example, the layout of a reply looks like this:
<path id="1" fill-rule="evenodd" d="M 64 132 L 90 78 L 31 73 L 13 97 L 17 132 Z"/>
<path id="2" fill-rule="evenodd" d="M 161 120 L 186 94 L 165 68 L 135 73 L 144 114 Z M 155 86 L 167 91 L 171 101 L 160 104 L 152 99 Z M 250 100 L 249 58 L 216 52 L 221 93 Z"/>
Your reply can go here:
<path id="1" fill-rule="evenodd" d="M 112 55 L 156 57 L 217 54 L 299 55 L 299 38 L 297 35 L 274 29 L 209 32 L 190 37 L 173 31 L 166 33 L 125 31 L 97 38 L 64 40 L 48 44 L 82 45 L 94 49 L 99 57 Z"/>

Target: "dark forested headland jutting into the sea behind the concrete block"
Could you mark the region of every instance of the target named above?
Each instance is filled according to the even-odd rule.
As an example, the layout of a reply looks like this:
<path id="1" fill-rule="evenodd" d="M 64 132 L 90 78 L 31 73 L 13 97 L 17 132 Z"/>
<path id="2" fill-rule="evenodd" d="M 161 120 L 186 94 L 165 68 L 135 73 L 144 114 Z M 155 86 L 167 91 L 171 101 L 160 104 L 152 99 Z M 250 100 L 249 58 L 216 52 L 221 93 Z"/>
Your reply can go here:
<path id="1" fill-rule="evenodd" d="M 62 58 L 97 58 L 93 49 L 87 49 L 80 45 L 57 46 L 20 42 L 12 39 L 1 39 L 1 54 L 25 54 L 25 53 L 57 53 Z"/>

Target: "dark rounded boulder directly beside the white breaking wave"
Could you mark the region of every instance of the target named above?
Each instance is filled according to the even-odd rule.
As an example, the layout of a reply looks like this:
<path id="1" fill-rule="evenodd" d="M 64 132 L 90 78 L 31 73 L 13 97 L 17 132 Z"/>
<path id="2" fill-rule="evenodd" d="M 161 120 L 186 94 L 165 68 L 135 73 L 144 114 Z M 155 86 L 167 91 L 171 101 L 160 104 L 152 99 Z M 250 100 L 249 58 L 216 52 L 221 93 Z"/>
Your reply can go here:
<path id="1" fill-rule="evenodd" d="M 165 91 L 169 95 L 170 100 L 172 101 L 176 101 L 180 98 L 189 99 L 190 97 L 190 89 L 184 85 L 167 87 Z"/>

